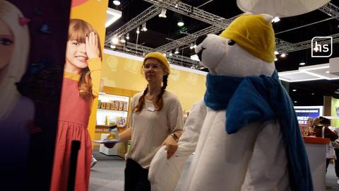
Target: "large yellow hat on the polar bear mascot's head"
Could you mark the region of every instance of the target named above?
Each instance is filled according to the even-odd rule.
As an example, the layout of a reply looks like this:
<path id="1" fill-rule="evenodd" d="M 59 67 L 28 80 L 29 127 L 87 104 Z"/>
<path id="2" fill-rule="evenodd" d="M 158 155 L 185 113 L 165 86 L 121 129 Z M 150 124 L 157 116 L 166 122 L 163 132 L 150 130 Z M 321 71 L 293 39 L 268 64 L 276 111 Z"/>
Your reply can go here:
<path id="1" fill-rule="evenodd" d="M 220 36 L 234 40 L 254 57 L 266 62 L 273 62 L 275 59 L 274 30 L 272 24 L 261 15 L 239 16 L 222 31 Z"/>

